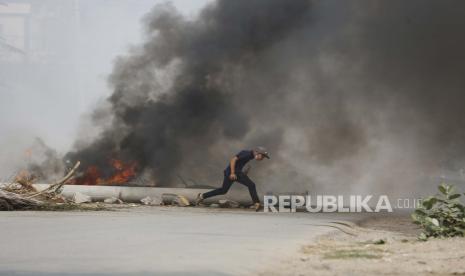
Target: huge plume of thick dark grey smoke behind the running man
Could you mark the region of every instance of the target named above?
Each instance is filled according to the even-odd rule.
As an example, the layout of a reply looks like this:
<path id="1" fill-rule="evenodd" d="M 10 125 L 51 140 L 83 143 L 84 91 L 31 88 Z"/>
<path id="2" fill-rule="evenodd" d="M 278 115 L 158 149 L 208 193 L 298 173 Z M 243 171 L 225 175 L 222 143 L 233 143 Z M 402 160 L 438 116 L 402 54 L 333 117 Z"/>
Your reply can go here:
<path id="1" fill-rule="evenodd" d="M 232 154 L 264 145 L 262 191 L 415 191 L 464 167 L 464 8 L 220 0 L 187 20 L 156 6 L 116 61 L 101 133 L 66 158 L 217 185 Z"/>

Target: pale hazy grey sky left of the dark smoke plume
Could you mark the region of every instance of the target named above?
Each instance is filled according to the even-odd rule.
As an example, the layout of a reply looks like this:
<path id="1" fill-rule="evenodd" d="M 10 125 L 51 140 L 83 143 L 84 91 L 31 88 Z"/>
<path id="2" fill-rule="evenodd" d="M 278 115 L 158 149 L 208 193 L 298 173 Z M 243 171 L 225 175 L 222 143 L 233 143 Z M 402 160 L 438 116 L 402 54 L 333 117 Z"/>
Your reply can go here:
<path id="1" fill-rule="evenodd" d="M 81 0 L 77 20 L 73 14 L 56 16 L 49 2 L 50 9 L 36 11 L 48 25 L 45 32 L 44 26 L 31 26 L 31 48 L 41 49 L 36 55 L 53 62 L 25 65 L 0 58 L 0 172 L 24 159 L 34 137 L 60 152 L 70 149 L 85 116 L 110 94 L 106 78 L 114 59 L 143 40 L 141 18 L 168 1 Z M 195 17 L 210 1 L 169 2 Z"/>

